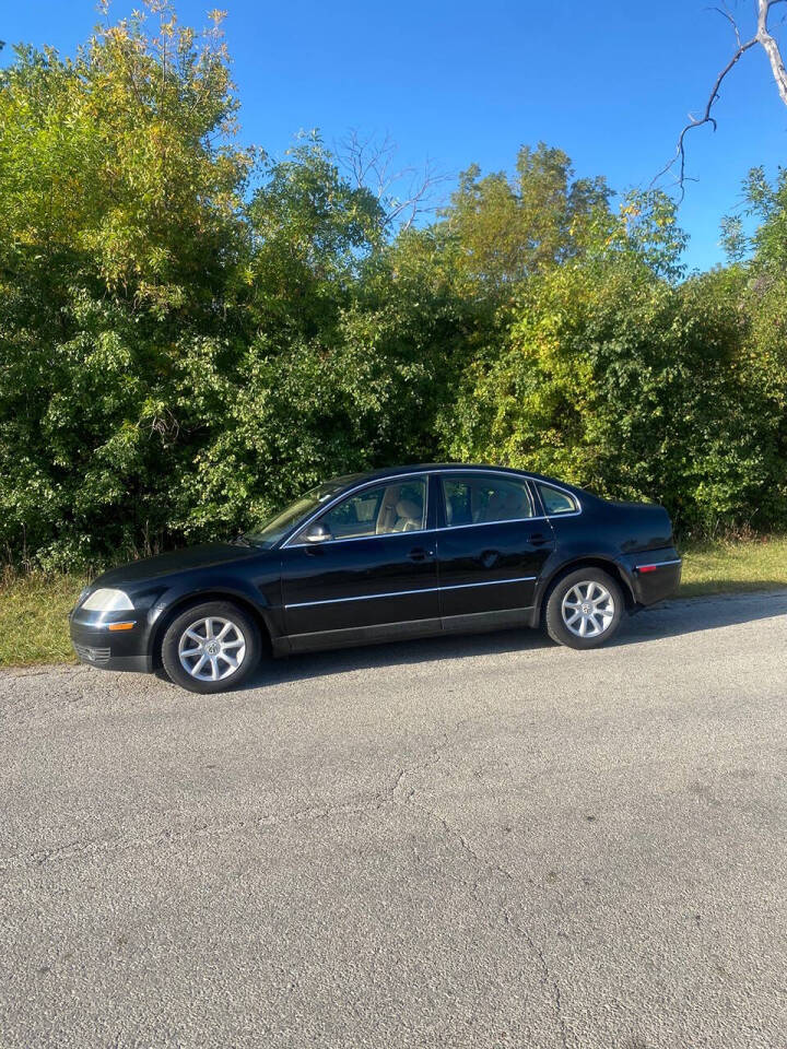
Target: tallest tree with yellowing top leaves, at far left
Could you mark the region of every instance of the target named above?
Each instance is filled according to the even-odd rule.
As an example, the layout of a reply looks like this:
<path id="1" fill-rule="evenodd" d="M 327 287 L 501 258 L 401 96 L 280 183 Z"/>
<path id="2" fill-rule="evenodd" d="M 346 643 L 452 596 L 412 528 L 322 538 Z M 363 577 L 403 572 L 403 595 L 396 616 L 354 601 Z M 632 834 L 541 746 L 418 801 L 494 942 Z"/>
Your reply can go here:
<path id="1" fill-rule="evenodd" d="M 249 250 L 219 26 L 150 7 L 152 35 L 134 15 L 0 74 L 0 542 L 52 564 L 165 528 L 177 380 L 230 351 Z"/>

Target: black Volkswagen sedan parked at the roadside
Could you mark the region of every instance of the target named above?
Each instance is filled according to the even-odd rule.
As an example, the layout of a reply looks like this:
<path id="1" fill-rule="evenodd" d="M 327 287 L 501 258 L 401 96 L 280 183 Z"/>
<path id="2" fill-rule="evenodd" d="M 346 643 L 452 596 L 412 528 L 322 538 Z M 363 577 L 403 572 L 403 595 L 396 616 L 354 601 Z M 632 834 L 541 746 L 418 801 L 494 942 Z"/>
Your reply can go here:
<path id="1" fill-rule="evenodd" d="M 543 625 L 596 648 L 680 581 L 667 511 L 550 478 L 416 465 L 336 478 L 231 543 L 105 573 L 71 612 L 78 657 L 193 692 L 287 656 Z"/>

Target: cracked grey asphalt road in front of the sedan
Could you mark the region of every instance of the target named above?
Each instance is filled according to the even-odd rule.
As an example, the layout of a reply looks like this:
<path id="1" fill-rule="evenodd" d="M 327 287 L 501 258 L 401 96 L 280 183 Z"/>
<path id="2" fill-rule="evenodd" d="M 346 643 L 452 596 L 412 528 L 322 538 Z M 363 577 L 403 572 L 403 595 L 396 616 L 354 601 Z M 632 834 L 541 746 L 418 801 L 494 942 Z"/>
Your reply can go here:
<path id="1" fill-rule="evenodd" d="M 0 674 L 0 1047 L 787 1045 L 787 591 Z"/>

